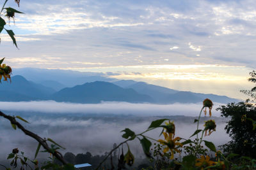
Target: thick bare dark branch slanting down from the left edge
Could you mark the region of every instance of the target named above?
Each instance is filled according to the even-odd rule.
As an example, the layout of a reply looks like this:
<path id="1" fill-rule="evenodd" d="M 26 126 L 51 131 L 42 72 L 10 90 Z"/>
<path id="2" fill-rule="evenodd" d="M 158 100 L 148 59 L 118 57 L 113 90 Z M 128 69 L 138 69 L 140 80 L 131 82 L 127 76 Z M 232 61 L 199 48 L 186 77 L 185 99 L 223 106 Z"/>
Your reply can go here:
<path id="1" fill-rule="evenodd" d="M 45 148 L 45 150 L 47 150 L 47 152 L 52 153 L 51 148 L 48 146 L 48 144 L 46 143 L 45 139 L 41 138 L 40 136 L 38 136 L 37 134 L 34 134 L 31 131 L 28 131 L 27 129 L 25 129 L 22 125 L 20 125 L 19 122 L 17 122 L 15 120 L 15 117 L 11 117 L 9 115 L 5 115 L 2 111 L 0 111 L 0 116 L 10 120 L 11 124 L 17 125 L 17 127 L 22 132 L 24 132 L 24 134 L 30 136 L 31 138 L 36 139 L 36 141 L 38 141 L 38 143 L 40 143 Z M 64 165 L 67 164 L 66 160 L 63 159 L 62 155 L 59 152 L 54 152 L 54 153 L 52 153 L 52 155 L 54 155 L 54 157 L 56 157 L 56 159 L 60 160 L 60 162 L 62 164 L 64 164 Z"/>

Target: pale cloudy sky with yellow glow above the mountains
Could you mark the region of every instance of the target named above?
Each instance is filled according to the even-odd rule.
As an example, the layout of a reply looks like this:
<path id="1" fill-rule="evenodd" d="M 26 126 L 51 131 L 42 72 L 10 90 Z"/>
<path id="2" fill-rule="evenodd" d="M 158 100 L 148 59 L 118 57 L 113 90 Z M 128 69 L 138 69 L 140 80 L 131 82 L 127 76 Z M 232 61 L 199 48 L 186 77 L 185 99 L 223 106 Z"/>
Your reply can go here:
<path id="1" fill-rule="evenodd" d="M 256 63 L 255 1 L 20 1 L 13 67 L 72 69 L 177 90 L 246 97 Z"/>

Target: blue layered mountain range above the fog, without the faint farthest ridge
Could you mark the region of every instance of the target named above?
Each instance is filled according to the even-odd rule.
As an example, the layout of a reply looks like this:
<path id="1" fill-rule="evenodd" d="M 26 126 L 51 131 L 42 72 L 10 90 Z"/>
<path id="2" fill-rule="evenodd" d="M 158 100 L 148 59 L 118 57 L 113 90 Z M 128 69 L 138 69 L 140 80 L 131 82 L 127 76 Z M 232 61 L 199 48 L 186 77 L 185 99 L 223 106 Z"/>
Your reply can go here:
<path id="1" fill-rule="evenodd" d="M 88 77 L 92 78 L 91 76 Z M 105 78 L 105 80 L 109 79 Z M 12 77 L 12 83 L 6 81 L 1 83 L 0 101 L 53 100 L 70 103 L 124 101 L 156 104 L 198 103 L 204 101 L 205 98 L 209 98 L 215 103 L 239 101 L 227 96 L 173 90 L 133 80 L 90 81 L 91 79 L 86 80 L 86 83 L 68 87 L 70 85 L 65 85 L 64 81 L 60 83 L 45 79 L 41 83 L 35 83 L 23 76 L 16 75 Z"/>

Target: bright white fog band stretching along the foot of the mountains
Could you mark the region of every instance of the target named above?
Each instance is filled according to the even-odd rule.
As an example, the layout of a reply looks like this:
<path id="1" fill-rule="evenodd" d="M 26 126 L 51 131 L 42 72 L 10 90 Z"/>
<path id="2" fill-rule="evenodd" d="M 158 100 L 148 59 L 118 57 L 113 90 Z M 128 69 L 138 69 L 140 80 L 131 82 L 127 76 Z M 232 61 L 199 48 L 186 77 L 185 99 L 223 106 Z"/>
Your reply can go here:
<path id="1" fill-rule="evenodd" d="M 216 104 L 214 107 L 218 107 Z M 0 102 L 2 110 L 8 111 L 35 111 L 43 113 L 82 113 L 82 114 L 113 114 L 113 115 L 136 115 L 136 116 L 159 116 L 159 115 L 186 115 L 196 116 L 202 108 L 198 104 L 134 104 L 124 102 L 104 102 L 100 104 L 76 104 L 57 103 L 55 101 L 31 101 L 31 102 Z M 218 117 L 220 113 L 213 111 Z"/>

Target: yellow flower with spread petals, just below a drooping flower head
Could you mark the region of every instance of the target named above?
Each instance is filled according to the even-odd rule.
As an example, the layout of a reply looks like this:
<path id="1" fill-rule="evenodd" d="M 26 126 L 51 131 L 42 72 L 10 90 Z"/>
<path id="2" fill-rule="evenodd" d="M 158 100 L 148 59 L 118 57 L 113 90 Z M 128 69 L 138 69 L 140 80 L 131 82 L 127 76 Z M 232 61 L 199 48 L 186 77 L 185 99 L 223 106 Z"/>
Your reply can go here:
<path id="1" fill-rule="evenodd" d="M 180 151 L 177 150 L 177 147 L 182 146 L 182 144 L 179 142 L 176 142 L 176 141 L 179 141 L 180 138 L 179 137 L 174 138 L 174 134 L 172 133 L 163 132 L 163 135 L 164 135 L 164 140 L 159 139 L 158 141 L 162 145 L 166 145 L 166 148 L 164 148 L 163 152 L 166 153 L 170 150 L 170 152 L 172 153 L 170 159 L 173 159 L 174 151 L 180 153 Z"/>

